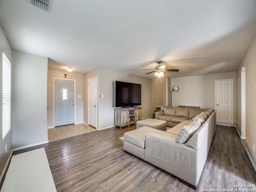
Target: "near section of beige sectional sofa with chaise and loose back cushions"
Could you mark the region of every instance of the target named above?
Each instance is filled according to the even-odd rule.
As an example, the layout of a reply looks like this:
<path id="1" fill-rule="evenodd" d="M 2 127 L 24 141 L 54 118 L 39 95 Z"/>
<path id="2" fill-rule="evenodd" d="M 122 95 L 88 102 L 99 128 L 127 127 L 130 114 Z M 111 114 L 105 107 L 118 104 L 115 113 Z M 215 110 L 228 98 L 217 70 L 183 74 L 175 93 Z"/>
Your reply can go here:
<path id="1" fill-rule="evenodd" d="M 215 126 L 215 111 L 212 110 L 184 120 L 167 131 L 144 126 L 124 134 L 124 151 L 177 176 L 180 182 L 196 189 Z"/>

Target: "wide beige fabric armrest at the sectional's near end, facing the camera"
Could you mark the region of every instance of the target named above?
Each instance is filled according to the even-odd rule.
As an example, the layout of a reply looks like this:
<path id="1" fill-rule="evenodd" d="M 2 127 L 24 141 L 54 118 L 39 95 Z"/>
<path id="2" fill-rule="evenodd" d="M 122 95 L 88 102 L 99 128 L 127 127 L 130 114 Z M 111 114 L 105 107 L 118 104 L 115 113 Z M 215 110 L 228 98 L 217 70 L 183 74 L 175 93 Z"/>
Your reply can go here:
<path id="1" fill-rule="evenodd" d="M 178 144 L 175 140 L 176 138 L 171 136 L 147 134 L 145 160 L 196 186 L 198 183 L 197 150 Z"/>

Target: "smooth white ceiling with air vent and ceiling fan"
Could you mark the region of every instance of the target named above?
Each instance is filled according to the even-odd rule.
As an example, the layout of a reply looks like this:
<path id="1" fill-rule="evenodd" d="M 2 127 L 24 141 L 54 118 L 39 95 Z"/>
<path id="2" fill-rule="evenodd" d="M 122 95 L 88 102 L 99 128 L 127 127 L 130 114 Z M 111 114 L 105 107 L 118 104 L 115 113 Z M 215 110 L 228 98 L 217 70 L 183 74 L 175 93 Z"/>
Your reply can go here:
<path id="1" fill-rule="evenodd" d="M 235 71 L 256 34 L 256 0 L 53 0 L 50 13 L 0 0 L 13 49 L 48 68 L 108 67 L 146 78 L 157 60 L 168 77 Z"/>

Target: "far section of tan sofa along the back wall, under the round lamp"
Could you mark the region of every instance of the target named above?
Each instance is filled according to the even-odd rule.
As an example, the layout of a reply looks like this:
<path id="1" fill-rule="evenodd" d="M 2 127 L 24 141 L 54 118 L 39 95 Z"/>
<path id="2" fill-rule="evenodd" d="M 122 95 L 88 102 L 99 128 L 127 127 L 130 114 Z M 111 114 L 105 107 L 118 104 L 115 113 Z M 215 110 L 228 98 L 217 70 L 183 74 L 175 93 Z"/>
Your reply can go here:
<path id="1" fill-rule="evenodd" d="M 210 108 L 196 109 L 187 107 L 161 106 L 160 111 L 155 112 L 155 119 L 165 120 L 167 126 L 174 127 L 185 120 L 191 120 L 201 112 L 210 110 Z"/>

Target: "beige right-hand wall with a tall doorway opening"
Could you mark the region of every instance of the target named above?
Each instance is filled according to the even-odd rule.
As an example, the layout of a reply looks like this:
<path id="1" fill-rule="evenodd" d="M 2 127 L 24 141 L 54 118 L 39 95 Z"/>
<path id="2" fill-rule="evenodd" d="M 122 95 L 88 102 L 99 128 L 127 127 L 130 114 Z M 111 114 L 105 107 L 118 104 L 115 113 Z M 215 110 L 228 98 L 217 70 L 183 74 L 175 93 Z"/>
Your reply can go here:
<path id="1" fill-rule="evenodd" d="M 245 65 L 245 81 L 246 81 L 246 150 L 250 160 L 253 162 L 254 169 L 256 170 L 256 38 L 252 40 L 244 58 L 240 62 L 236 71 L 237 75 L 237 114 L 239 124 L 238 129 L 241 132 L 241 116 L 242 116 L 242 97 L 241 97 L 241 72 L 242 67 Z M 255 150 L 253 150 L 253 144 Z"/>

